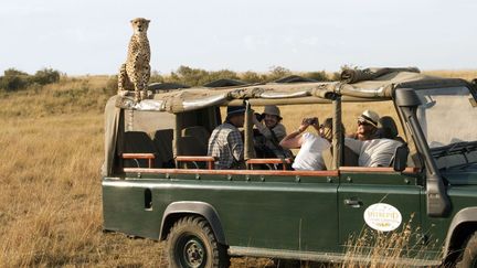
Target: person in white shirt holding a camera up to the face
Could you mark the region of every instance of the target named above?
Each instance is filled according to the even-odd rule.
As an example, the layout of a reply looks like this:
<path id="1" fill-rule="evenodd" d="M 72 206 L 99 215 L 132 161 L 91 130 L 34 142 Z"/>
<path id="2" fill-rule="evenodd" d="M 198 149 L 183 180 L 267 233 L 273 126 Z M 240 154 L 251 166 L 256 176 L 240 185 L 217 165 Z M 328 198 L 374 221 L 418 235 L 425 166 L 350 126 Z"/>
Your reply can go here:
<path id="1" fill-rule="evenodd" d="M 330 141 L 326 139 L 328 137 L 325 137 L 327 133 L 330 133 L 332 127 L 331 118 L 326 119 L 325 124 L 319 125 L 317 117 L 305 118 L 296 131 L 289 133 L 280 141 L 279 144 L 283 148 L 300 148 L 292 168 L 295 170 L 326 170 L 321 152 L 331 147 Z M 309 126 L 312 126 L 318 135 L 305 132 Z"/>

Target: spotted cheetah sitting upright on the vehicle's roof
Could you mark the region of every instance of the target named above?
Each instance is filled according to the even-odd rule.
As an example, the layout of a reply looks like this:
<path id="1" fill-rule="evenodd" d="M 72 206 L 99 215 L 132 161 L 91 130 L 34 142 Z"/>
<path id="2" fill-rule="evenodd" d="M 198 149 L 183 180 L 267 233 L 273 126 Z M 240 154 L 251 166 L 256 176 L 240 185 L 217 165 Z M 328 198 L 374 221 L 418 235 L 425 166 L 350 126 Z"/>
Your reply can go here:
<path id="1" fill-rule="evenodd" d="M 135 92 L 135 101 L 147 96 L 147 85 L 150 77 L 150 46 L 147 30 L 150 20 L 136 18 L 130 21 L 134 34 L 129 41 L 126 63 L 119 69 L 118 94 Z"/>

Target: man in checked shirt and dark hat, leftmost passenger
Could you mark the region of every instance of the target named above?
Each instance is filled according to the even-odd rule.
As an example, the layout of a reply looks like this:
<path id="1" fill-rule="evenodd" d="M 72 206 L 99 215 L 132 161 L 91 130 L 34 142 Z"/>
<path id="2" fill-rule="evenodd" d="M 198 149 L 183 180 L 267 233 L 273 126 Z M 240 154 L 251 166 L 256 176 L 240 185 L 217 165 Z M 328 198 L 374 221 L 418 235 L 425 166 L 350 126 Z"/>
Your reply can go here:
<path id="1" fill-rule="evenodd" d="M 225 121 L 209 139 L 208 156 L 214 157 L 215 169 L 239 169 L 244 165 L 244 143 L 239 128 L 245 120 L 245 106 L 229 106 Z"/>

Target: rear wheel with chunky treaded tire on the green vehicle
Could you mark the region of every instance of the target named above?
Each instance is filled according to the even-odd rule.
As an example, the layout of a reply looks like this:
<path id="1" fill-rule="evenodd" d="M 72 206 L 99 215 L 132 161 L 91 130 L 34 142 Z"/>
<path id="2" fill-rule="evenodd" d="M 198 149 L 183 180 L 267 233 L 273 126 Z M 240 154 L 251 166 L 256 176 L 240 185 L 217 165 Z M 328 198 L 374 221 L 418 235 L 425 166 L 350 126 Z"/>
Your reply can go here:
<path id="1" fill-rule="evenodd" d="M 209 223 L 199 216 L 176 222 L 167 240 L 169 267 L 223 268 L 230 266 L 225 246 L 219 244 Z"/>

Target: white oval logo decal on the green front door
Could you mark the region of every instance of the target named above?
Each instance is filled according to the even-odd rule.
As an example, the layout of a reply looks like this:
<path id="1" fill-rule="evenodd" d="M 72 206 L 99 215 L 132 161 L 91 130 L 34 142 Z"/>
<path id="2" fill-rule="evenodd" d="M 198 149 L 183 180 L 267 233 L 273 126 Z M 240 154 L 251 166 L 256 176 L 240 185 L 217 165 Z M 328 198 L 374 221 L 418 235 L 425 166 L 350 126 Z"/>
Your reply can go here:
<path id="1" fill-rule="evenodd" d="M 377 203 L 364 211 L 364 222 L 373 229 L 390 232 L 401 225 L 401 213 L 392 205 Z"/>

